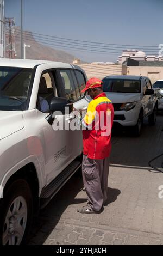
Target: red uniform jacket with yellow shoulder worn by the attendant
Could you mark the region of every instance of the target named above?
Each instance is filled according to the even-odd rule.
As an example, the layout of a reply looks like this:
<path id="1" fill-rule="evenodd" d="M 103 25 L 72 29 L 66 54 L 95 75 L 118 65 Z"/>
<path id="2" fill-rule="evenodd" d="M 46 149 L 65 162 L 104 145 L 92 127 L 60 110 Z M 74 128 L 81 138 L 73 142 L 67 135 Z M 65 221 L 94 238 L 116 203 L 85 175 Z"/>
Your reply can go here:
<path id="1" fill-rule="evenodd" d="M 114 108 L 105 93 L 96 96 L 82 121 L 83 154 L 90 159 L 105 159 L 111 151 L 111 128 Z"/>

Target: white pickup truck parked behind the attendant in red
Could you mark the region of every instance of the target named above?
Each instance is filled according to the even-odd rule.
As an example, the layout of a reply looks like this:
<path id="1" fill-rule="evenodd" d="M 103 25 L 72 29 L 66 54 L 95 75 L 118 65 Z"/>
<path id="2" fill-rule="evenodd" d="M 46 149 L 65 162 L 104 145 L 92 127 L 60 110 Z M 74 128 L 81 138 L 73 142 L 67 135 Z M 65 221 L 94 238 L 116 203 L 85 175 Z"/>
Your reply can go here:
<path id="1" fill-rule="evenodd" d="M 106 76 L 103 83 L 114 106 L 114 124 L 131 126 L 136 136 L 141 133 L 143 118 L 148 117 L 149 124 L 155 124 L 158 98 L 148 77 Z"/>

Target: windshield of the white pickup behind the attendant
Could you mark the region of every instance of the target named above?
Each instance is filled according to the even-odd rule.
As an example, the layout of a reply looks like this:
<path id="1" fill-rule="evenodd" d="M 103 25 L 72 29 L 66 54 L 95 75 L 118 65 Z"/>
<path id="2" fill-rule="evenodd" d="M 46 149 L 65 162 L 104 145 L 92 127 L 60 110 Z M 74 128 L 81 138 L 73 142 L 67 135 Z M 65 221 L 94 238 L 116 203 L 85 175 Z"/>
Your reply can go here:
<path id="1" fill-rule="evenodd" d="M 104 92 L 111 93 L 140 93 L 139 80 L 123 80 L 123 79 L 109 79 L 103 80 Z"/>

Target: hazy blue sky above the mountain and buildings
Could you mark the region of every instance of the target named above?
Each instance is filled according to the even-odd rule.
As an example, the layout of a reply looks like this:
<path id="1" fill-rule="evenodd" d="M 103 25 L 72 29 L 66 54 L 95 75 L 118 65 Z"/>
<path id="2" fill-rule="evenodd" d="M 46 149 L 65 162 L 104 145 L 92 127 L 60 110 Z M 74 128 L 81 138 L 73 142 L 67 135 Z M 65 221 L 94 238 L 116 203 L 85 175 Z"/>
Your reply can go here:
<path id="1" fill-rule="evenodd" d="M 21 1 L 4 2 L 5 17 L 15 17 L 16 26 L 20 26 Z M 144 48 L 145 52 L 158 54 L 158 45 L 163 43 L 162 13 L 162 0 L 23 0 L 23 29 L 67 39 L 116 44 L 91 44 L 92 48 L 87 45 L 90 48 L 84 47 L 84 51 L 63 47 L 64 44 L 56 41 L 53 44 L 58 46 L 51 46 L 89 62 L 110 62 L 117 59 L 122 48 Z M 77 44 L 70 45 L 72 41 L 68 42 L 65 46 L 77 47 Z M 136 47 L 139 45 L 146 47 Z"/>

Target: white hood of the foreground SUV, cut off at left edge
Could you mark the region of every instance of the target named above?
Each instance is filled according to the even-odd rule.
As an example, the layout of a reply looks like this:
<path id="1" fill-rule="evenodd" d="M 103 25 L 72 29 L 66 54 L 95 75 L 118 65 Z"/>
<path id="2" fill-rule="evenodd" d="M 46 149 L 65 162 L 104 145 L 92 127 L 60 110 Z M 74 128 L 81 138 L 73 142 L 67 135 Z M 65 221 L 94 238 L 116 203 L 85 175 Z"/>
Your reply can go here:
<path id="1" fill-rule="evenodd" d="M 23 129 L 22 111 L 0 111 L 0 140 Z"/>

